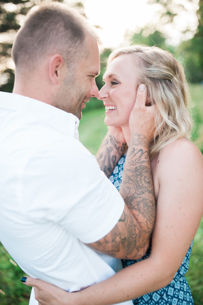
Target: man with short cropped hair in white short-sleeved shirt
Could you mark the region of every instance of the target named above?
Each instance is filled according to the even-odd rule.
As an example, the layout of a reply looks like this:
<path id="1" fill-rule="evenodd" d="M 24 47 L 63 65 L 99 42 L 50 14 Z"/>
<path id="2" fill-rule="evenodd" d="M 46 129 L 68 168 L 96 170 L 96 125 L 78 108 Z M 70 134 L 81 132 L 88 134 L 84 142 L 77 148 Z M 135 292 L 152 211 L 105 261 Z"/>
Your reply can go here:
<path id="1" fill-rule="evenodd" d="M 129 145 L 143 151 L 148 170 L 150 191 L 143 194 L 142 212 L 136 210 L 134 168 L 129 165 L 123 173 L 124 203 L 78 141 L 81 110 L 98 95 L 98 42 L 74 10 L 57 2 L 40 5 L 14 41 L 13 94 L 1 93 L 1 242 L 27 274 L 68 291 L 121 268 L 120 260 L 92 249 L 116 258 L 142 256 L 155 215 L 148 160 L 153 107 L 145 107 L 142 88 L 137 99 L 142 114 L 132 111 L 136 120 L 131 120 Z M 145 127 L 149 116 L 151 125 Z"/>

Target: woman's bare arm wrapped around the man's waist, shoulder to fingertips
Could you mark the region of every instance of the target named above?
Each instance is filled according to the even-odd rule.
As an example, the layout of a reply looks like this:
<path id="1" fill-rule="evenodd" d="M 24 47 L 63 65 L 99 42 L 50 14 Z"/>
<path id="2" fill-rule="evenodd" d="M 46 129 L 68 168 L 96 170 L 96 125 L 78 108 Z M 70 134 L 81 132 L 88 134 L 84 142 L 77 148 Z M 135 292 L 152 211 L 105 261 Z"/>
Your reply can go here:
<path id="1" fill-rule="evenodd" d="M 42 305 L 107 305 L 132 300 L 168 285 L 180 267 L 203 213 L 203 157 L 195 145 L 177 140 L 157 160 L 159 194 L 150 257 L 82 291 L 68 293 L 28 278 Z"/>

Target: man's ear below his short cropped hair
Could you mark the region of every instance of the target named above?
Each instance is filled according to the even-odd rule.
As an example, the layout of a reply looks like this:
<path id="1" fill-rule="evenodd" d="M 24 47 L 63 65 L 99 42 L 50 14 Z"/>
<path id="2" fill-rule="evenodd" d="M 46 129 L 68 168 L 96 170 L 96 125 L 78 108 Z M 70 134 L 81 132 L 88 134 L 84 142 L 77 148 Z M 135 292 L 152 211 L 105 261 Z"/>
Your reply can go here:
<path id="1" fill-rule="evenodd" d="M 65 62 L 60 54 L 49 59 L 49 78 L 54 85 L 60 84 L 65 76 Z"/>

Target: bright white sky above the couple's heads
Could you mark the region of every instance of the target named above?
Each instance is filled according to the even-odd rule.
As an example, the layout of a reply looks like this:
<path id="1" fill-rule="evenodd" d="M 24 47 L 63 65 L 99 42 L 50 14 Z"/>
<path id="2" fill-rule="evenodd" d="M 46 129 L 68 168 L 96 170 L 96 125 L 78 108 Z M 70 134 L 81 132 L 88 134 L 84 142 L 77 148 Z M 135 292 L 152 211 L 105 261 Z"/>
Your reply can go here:
<path id="1" fill-rule="evenodd" d="M 106 48 L 127 44 L 124 42 L 125 33 L 130 37 L 130 34 L 139 32 L 147 23 L 152 24 L 151 32 L 154 27 L 161 28 L 168 37 L 167 42 L 172 45 L 178 45 L 182 39 L 192 38 L 198 26 L 198 0 L 193 0 L 193 3 L 188 0 L 173 0 L 174 11 L 177 10 L 177 4 L 183 4 L 186 11 L 178 11 L 179 16 L 174 19 L 174 24 L 166 26 L 159 23 L 162 6 L 149 5 L 147 0 L 83 0 L 82 3 L 89 22 L 102 28 L 98 33 Z M 180 30 L 187 27 L 191 32 L 183 38 Z"/>

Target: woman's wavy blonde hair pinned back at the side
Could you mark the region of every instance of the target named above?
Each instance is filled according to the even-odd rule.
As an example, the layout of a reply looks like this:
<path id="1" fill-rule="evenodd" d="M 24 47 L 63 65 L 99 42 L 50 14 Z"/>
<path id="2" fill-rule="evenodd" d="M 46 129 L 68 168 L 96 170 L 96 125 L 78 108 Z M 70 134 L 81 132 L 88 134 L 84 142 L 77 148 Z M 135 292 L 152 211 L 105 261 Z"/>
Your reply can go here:
<path id="1" fill-rule="evenodd" d="M 124 54 L 135 55 L 137 88 L 140 84 L 146 85 L 151 104 L 156 104 L 161 113 L 161 118 L 155 113 L 158 136 L 154 136 L 149 148 L 152 159 L 168 143 L 182 137 L 190 138 L 193 124 L 187 110 L 189 90 L 184 69 L 168 51 L 146 45 L 115 50 L 110 54 L 107 66 Z"/>

